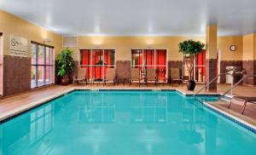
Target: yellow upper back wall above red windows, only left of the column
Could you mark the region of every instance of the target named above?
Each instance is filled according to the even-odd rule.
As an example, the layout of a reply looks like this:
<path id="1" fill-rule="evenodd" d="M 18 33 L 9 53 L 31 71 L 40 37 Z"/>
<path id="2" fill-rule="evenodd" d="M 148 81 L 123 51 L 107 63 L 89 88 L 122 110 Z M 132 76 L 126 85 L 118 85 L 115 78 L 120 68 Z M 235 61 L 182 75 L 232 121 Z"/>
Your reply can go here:
<path id="1" fill-rule="evenodd" d="M 189 38 L 204 42 L 204 37 L 79 37 L 79 49 L 116 49 L 116 60 L 131 60 L 131 49 L 167 49 L 168 60 L 183 60 L 178 43 Z"/>

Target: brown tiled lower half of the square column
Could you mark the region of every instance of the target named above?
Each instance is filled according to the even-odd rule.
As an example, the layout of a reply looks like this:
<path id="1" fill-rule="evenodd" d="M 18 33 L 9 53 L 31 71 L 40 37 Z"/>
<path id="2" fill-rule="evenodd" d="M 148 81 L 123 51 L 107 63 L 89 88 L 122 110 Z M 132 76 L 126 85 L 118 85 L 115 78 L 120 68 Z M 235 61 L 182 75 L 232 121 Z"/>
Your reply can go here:
<path id="1" fill-rule="evenodd" d="M 217 59 L 207 59 L 207 68 L 206 68 L 206 83 L 210 83 L 213 78 L 217 76 Z M 216 90 L 217 89 L 217 80 L 211 83 L 207 90 Z"/>

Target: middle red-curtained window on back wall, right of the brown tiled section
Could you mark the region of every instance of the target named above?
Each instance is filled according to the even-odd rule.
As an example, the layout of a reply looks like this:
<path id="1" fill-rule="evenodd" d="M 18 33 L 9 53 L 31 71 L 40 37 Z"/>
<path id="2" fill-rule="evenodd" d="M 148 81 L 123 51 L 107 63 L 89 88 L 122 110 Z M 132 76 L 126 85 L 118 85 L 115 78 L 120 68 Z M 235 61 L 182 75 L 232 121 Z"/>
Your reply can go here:
<path id="1" fill-rule="evenodd" d="M 140 68 L 141 79 L 147 68 L 154 68 L 160 82 L 166 82 L 166 49 L 131 49 L 131 67 Z"/>

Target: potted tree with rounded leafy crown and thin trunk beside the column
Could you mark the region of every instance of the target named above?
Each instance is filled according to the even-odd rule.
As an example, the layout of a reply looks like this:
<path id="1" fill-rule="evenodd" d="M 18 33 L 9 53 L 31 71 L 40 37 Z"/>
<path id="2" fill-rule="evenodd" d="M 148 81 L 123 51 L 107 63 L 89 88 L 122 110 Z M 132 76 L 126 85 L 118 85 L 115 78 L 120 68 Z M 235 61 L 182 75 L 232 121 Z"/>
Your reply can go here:
<path id="1" fill-rule="evenodd" d="M 188 58 L 185 59 L 185 65 L 187 71 L 189 72 L 189 80 L 187 82 L 187 89 L 194 90 L 195 89 L 195 81 L 194 81 L 194 60 L 195 55 L 201 53 L 202 49 L 205 47 L 204 43 L 194 40 L 186 40 L 182 43 L 178 44 L 179 52 L 183 53 L 183 55 Z"/>

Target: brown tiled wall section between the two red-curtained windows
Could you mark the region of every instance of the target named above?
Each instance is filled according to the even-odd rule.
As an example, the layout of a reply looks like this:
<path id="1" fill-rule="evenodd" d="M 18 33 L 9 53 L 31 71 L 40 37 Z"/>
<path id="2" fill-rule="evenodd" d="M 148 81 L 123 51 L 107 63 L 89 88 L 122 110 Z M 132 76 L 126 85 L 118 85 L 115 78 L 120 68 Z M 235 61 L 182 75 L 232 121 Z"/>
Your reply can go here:
<path id="1" fill-rule="evenodd" d="M 116 61 L 116 77 L 118 79 L 129 79 L 131 73 L 131 60 L 117 60 Z"/>

